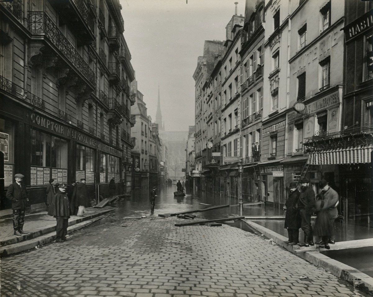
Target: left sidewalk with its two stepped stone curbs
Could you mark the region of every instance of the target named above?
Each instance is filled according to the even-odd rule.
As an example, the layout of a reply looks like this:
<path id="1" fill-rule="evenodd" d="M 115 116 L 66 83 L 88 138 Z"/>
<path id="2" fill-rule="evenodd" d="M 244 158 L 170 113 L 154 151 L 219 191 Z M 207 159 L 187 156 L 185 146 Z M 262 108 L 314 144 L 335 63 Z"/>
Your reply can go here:
<path id="1" fill-rule="evenodd" d="M 114 209 L 116 207 L 90 207 L 86 209 L 84 217 L 71 216 L 68 234 L 99 221 L 104 218 L 106 213 Z M 38 248 L 56 238 L 56 219 L 49 216 L 47 212 L 26 215 L 23 231 L 28 232 L 28 234 L 22 236 L 13 235 L 12 218 L 6 218 L 6 215 L 2 217 L 3 219 L 0 219 L 0 258 Z"/>

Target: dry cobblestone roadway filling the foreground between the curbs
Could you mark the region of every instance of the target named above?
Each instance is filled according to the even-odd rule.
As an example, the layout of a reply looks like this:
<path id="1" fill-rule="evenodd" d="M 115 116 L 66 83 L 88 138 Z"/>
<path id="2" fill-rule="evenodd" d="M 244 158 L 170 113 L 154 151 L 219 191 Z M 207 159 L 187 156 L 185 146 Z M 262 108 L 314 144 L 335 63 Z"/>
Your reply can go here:
<path id="1" fill-rule="evenodd" d="M 364 296 L 263 237 L 177 218 L 102 220 L 1 260 L 1 296 Z"/>

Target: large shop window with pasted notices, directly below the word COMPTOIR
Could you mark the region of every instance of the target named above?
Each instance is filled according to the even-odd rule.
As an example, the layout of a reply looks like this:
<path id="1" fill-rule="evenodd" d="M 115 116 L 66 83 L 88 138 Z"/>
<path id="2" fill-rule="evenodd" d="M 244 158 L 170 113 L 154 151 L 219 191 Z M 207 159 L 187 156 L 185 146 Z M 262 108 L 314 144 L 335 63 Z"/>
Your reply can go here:
<path id="1" fill-rule="evenodd" d="M 31 129 L 30 184 L 45 185 L 50 178 L 67 183 L 68 142 Z"/>

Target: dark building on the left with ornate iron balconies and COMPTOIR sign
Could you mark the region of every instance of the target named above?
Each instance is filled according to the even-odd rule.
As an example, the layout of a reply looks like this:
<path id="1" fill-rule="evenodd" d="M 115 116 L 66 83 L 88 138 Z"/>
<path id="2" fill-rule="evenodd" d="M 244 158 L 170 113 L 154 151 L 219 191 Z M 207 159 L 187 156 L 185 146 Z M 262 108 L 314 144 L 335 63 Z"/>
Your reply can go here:
<path id="1" fill-rule="evenodd" d="M 112 177 L 120 193 L 134 104 L 120 9 L 115 0 L 0 3 L 5 190 L 22 173 L 34 205 L 51 178 L 85 178 L 93 204 Z"/>

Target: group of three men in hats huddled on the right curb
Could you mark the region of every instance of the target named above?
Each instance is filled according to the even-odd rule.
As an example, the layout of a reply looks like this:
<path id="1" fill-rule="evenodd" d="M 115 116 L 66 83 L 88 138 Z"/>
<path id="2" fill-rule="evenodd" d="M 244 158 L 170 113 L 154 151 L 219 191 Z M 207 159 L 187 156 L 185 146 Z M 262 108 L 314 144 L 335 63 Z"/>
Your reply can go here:
<path id="1" fill-rule="evenodd" d="M 288 230 L 289 239 L 285 243 L 301 247 L 314 246 L 313 236 L 321 238 L 316 244 L 323 248 L 329 249 L 329 243 L 335 243 L 334 221 L 338 218 L 338 194 L 325 179 L 319 185 L 321 193 L 316 196 L 309 179 L 301 181 L 301 191 L 298 191 L 295 182 L 289 184 L 289 196 L 284 206 L 284 228 Z M 314 212 L 317 218 L 313 229 L 311 215 Z M 299 228 L 304 232 L 303 243 L 299 243 Z"/>

